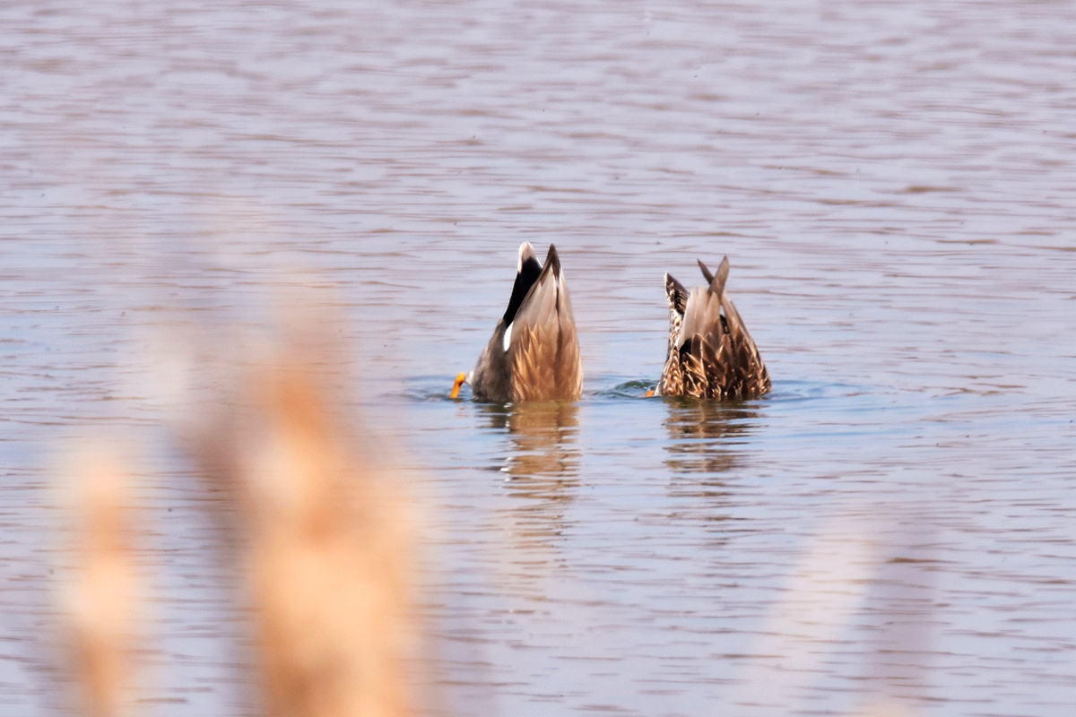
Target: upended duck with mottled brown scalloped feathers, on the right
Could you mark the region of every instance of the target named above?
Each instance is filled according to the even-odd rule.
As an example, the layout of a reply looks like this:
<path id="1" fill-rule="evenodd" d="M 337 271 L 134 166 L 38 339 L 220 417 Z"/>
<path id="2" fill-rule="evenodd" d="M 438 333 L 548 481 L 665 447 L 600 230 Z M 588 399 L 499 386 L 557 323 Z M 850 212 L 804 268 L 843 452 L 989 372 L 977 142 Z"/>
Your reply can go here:
<path id="1" fill-rule="evenodd" d="M 702 261 L 698 267 L 707 286 L 690 292 L 665 274 L 669 344 L 657 392 L 706 399 L 746 399 L 768 392 L 769 373 L 725 292 L 728 257 L 721 260 L 717 274 Z"/>

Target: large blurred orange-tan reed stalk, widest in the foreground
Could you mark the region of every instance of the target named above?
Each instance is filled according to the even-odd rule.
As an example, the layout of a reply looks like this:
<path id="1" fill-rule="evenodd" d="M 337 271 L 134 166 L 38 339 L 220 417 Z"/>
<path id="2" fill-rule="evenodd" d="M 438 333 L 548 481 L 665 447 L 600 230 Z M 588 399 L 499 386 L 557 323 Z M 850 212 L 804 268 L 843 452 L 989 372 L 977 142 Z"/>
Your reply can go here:
<path id="1" fill-rule="evenodd" d="M 241 507 L 233 535 L 265 706 L 279 717 L 401 717 L 411 520 L 398 476 L 359 455 L 309 365 L 252 371 L 244 407 L 199 442 Z"/>

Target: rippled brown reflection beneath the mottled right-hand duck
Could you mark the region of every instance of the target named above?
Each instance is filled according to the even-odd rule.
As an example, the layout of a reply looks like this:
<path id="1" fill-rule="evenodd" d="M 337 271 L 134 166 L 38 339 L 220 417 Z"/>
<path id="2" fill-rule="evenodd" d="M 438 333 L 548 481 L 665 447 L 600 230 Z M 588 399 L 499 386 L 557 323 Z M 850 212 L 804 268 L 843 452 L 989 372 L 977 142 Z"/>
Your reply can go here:
<path id="1" fill-rule="evenodd" d="M 759 413 L 742 402 L 667 398 L 669 433 L 665 464 L 677 473 L 726 473 L 739 462 L 737 446 Z"/>

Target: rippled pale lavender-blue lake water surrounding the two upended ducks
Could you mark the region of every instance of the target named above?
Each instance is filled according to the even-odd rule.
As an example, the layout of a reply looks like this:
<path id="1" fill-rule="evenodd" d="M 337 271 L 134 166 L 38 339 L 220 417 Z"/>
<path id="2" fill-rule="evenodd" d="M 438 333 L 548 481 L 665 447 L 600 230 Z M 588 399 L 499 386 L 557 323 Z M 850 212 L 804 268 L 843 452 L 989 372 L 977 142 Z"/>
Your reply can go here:
<path id="1" fill-rule="evenodd" d="M 142 446 L 150 714 L 252 714 L 182 338 L 337 317 L 417 469 L 445 715 L 1076 704 L 1076 5 L 0 8 L 0 714 L 57 714 L 56 457 Z M 447 399 L 555 242 L 584 395 Z M 641 398 L 732 261 L 774 381 Z M 466 390 L 466 389 L 465 389 Z M 873 711 L 873 712 L 872 712 Z"/>

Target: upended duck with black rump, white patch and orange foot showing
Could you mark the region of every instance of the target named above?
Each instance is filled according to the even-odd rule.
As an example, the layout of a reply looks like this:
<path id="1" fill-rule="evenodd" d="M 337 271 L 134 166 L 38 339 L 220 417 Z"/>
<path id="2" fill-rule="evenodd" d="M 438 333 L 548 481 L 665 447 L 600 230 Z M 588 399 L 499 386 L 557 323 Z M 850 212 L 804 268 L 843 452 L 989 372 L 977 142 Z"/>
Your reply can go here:
<path id="1" fill-rule="evenodd" d="M 538 263 L 530 242 L 520 246 L 508 310 L 475 370 L 456 376 L 452 398 L 464 382 L 479 401 L 498 403 L 575 400 L 582 393 L 576 320 L 552 244 L 544 267 Z"/>

